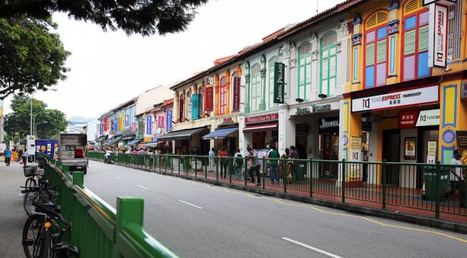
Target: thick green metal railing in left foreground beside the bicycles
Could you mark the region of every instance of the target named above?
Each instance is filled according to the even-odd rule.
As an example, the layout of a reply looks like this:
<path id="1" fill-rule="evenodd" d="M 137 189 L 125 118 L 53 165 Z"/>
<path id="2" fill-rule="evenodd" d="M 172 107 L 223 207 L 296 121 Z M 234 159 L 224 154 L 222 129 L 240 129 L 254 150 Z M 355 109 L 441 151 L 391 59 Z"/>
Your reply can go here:
<path id="1" fill-rule="evenodd" d="M 144 230 L 143 199 L 117 197 L 114 209 L 85 187 L 83 172 L 70 174 L 60 160 L 47 158 L 44 175 L 51 185 L 60 184 L 57 203 L 71 221 L 67 241 L 80 257 L 178 257 Z"/>

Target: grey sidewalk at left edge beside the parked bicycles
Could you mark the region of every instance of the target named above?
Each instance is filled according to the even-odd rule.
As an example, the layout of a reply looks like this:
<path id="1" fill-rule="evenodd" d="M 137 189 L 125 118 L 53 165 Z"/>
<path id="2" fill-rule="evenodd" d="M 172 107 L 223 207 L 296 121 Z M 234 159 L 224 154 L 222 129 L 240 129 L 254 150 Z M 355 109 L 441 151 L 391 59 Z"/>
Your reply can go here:
<path id="1" fill-rule="evenodd" d="M 0 257 L 24 257 L 21 241 L 27 215 L 19 188 L 26 181 L 22 165 L 12 162 L 6 167 L 1 162 L 0 176 Z"/>

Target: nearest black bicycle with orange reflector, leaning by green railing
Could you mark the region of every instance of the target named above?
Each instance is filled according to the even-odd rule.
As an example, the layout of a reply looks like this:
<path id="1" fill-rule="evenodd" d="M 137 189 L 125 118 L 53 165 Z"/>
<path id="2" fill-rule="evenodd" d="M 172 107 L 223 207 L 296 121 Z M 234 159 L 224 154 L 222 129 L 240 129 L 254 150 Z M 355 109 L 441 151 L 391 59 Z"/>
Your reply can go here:
<path id="1" fill-rule="evenodd" d="M 79 257 L 79 250 L 63 239 L 69 236 L 71 223 L 60 214 L 60 206 L 33 202 L 37 213 L 24 223 L 22 245 L 27 258 Z M 58 222 L 66 227 L 62 229 Z M 66 236 L 66 237 L 65 237 Z"/>

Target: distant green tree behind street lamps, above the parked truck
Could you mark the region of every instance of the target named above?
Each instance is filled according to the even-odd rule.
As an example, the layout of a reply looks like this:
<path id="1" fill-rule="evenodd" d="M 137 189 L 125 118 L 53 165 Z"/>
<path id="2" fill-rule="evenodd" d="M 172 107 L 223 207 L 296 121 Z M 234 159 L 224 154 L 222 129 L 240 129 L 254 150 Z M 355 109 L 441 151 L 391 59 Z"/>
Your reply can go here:
<path id="1" fill-rule="evenodd" d="M 24 139 L 30 133 L 31 98 L 15 95 L 10 107 L 12 112 L 3 118 L 3 128 L 10 138 Z M 59 133 L 67 129 L 68 121 L 65 118 L 65 113 L 57 109 L 47 109 L 47 104 L 40 100 L 33 99 L 33 116 L 35 116 L 36 125 L 38 122 L 47 122 L 36 127 L 37 138 L 56 138 Z"/>

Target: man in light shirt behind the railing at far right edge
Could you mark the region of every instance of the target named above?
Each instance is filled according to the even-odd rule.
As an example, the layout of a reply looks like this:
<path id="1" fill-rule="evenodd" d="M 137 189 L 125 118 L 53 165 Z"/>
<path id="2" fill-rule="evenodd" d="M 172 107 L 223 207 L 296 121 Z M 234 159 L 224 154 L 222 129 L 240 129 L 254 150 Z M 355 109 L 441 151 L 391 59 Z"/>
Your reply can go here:
<path id="1" fill-rule="evenodd" d="M 461 149 L 456 149 L 454 151 L 454 158 L 451 160 L 451 165 L 459 166 L 462 165 L 461 161 L 462 151 Z M 449 175 L 450 190 L 449 194 L 454 194 L 456 190 L 459 190 L 459 205 L 462 208 L 466 208 L 466 178 L 462 176 L 461 167 L 452 167 Z"/>

